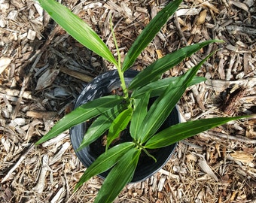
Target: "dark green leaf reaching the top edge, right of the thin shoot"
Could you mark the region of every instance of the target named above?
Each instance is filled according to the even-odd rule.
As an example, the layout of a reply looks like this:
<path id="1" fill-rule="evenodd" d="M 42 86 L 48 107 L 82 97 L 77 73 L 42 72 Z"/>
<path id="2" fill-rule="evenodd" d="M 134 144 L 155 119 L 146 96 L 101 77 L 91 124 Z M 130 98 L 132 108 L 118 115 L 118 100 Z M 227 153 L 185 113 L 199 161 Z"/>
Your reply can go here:
<path id="1" fill-rule="evenodd" d="M 148 23 L 148 26 L 143 29 L 142 33 L 136 41 L 134 41 L 132 47 L 130 47 L 130 50 L 125 56 L 122 71 L 126 71 L 131 65 L 133 65 L 139 54 L 142 53 L 142 50 L 148 46 L 154 36 L 157 35 L 157 32 L 159 32 L 162 26 L 166 24 L 169 17 L 174 14 L 181 2 L 182 0 L 170 2 L 156 15 L 156 17 L 154 17 L 154 19 L 151 20 L 150 23 Z"/>

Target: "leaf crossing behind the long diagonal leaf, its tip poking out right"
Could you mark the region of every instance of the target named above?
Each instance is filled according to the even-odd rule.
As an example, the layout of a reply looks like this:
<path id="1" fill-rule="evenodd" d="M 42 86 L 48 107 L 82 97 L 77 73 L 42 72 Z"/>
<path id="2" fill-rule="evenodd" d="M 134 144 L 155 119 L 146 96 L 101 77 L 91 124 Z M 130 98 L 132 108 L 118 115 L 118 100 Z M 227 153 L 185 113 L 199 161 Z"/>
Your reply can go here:
<path id="1" fill-rule="evenodd" d="M 135 89 L 132 93 L 133 98 L 139 98 L 142 95 L 144 95 L 146 92 L 151 92 L 151 97 L 159 96 L 161 95 L 165 90 L 166 87 L 169 86 L 170 83 L 172 83 L 172 86 L 175 87 L 178 80 L 180 80 L 181 76 L 178 77 L 168 77 L 163 80 L 157 80 L 153 83 L 149 83 L 146 86 L 143 86 L 140 89 Z M 193 80 L 188 84 L 188 86 L 192 86 L 197 83 L 202 83 L 206 81 L 205 77 L 194 77 Z"/>

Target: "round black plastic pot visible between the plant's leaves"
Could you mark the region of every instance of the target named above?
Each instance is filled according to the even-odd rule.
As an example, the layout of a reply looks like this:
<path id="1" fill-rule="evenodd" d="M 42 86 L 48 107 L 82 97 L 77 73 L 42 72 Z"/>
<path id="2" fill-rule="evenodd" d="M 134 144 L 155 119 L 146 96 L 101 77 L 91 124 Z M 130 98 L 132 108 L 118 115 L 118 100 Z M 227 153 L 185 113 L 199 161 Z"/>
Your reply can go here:
<path id="1" fill-rule="evenodd" d="M 126 83 L 129 84 L 130 81 L 133 80 L 133 77 L 135 77 L 138 73 L 138 71 L 126 71 L 124 73 Z M 88 85 L 81 92 L 81 95 L 78 97 L 78 100 L 75 103 L 75 108 L 86 102 L 90 102 L 95 98 L 99 98 L 102 95 L 109 95 L 113 89 L 117 89 L 118 87 L 120 87 L 120 80 L 117 71 L 108 71 L 105 74 L 99 75 L 91 83 L 88 83 Z M 166 129 L 167 127 L 177 123 L 180 123 L 180 117 L 177 108 L 175 108 L 166 119 L 165 123 L 163 123 L 163 125 L 160 127 L 160 130 Z M 70 129 L 70 138 L 74 150 L 78 149 L 81 141 L 84 138 L 86 130 L 86 123 L 79 124 L 78 126 Z M 129 135 L 129 130 L 124 133 Z M 94 162 L 102 150 L 105 150 L 104 146 L 102 146 L 102 149 L 99 149 L 96 146 L 99 147 L 93 143 L 90 144 L 90 146 L 85 147 L 83 150 L 76 152 L 78 159 L 80 159 L 80 161 L 86 167 L 90 166 Z M 176 144 L 172 144 L 168 147 L 152 150 L 150 153 L 157 159 L 157 162 L 154 162 L 153 159 L 142 153 L 131 183 L 145 180 L 163 168 L 163 165 L 165 165 L 170 156 L 172 156 L 172 152 L 174 151 L 175 146 Z M 100 174 L 99 176 L 105 178 L 107 174 L 108 171 Z"/>

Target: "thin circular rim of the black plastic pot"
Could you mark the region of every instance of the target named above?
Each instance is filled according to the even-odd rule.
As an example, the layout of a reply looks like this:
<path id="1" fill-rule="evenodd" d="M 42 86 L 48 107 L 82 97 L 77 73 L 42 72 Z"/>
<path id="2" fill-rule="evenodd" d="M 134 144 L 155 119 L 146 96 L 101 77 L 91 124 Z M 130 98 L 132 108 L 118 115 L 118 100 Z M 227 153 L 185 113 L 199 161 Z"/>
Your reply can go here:
<path id="1" fill-rule="evenodd" d="M 129 72 L 139 73 L 140 71 L 128 69 L 128 70 L 125 71 L 125 72 L 127 72 L 127 73 L 129 73 Z M 95 77 L 90 83 L 94 83 L 94 82 L 100 83 L 100 80 L 99 80 L 100 78 L 105 77 L 105 75 L 108 75 L 108 74 L 111 74 L 111 73 L 112 73 L 112 74 L 116 74 L 116 73 L 117 73 L 117 70 L 106 71 L 106 72 L 103 73 L 103 74 L 99 74 L 99 75 L 98 75 L 97 77 Z M 119 78 L 119 77 L 117 76 L 117 78 Z M 132 78 L 132 77 L 126 77 L 126 78 Z M 84 92 L 87 92 L 87 91 L 85 91 L 85 90 L 87 89 L 87 86 L 90 85 L 90 83 L 87 83 L 87 85 L 84 86 L 84 89 L 82 90 L 81 94 L 80 94 L 80 95 L 78 96 L 78 98 L 76 99 L 76 101 L 75 101 L 75 108 L 77 108 L 79 105 L 81 105 L 81 101 L 80 101 L 79 98 L 81 98 L 81 95 L 82 95 Z M 93 100 L 92 100 L 92 101 L 93 101 Z M 80 103 L 79 103 L 79 102 L 80 102 Z M 78 103 L 79 103 L 79 104 L 78 104 Z M 175 117 L 176 117 L 176 119 L 178 120 L 178 123 L 181 123 L 181 114 L 179 113 L 178 105 L 175 105 L 175 111 L 176 111 Z M 178 118 L 177 118 L 177 117 L 178 117 Z M 69 129 L 69 137 L 70 137 L 70 140 L 71 140 L 71 143 L 72 143 L 72 148 L 75 150 L 76 147 L 74 147 L 74 141 L 72 141 L 72 140 L 73 140 L 72 134 L 74 133 L 74 132 L 72 132 L 72 129 L 74 129 L 74 128 L 75 128 L 75 126 L 72 127 L 71 129 Z M 73 137 L 74 137 L 74 135 L 73 135 Z M 166 147 L 169 147 L 169 148 L 172 148 L 172 149 L 170 149 L 169 156 L 165 159 L 165 161 L 163 162 L 163 164 L 160 164 L 157 168 L 155 168 L 154 171 L 151 171 L 151 172 L 148 173 L 145 177 L 138 178 L 138 180 L 134 180 L 134 181 L 133 181 L 133 179 L 132 179 L 132 180 L 130 181 L 130 183 L 139 183 L 139 182 L 142 182 L 142 181 L 146 180 L 148 177 L 151 177 L 151 176 L 153 176 L 154 174 L 156 174 L 157 171 L 159 171 L 161 168 L 163 168 L 163 166 L 166 165 L 166 162 L 169 161 L 169 159 L 171 158 L 172 154 L 175 152 L 175 148 L 177 147 L 177 144 L 178 144 L 178 143 L 176 142 L 176 143 L 174 143 L 174 144 L 170 144 L 169 146 L 166 146 Z M 80 155 L 78 155 L 78 152 L 77 152 L 76 150 L 75 150 L 75 155 L 78 157 L 79 161 L 84 165 L 84 162 L 81 161 Z M 93 161 L 93 162 L 94 162 L 94 161 Z M 84 166 L 88 168 L 87 165 L 84 165 Z M 98 177 L 101 177 L 102 179 L 105 179 L 105 177 L 102 176 L 102 174 L 97 174 L 97 176 L 98 176 Z M 128 184 L 130 184 L 130 183 L 128 183 Z"/>

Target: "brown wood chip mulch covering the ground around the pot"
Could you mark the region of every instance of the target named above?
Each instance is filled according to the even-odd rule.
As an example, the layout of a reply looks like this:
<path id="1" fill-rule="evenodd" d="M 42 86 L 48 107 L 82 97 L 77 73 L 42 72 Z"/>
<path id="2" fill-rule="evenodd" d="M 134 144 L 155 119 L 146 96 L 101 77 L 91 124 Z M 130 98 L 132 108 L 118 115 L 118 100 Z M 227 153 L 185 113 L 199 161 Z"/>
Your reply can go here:
<path id="1" fill-rule="evenodd" d="M 96 30 L 116 55 L 113 16 L 124 56 L 166 2 L 62 1 Z M 200 69 L 206 83 L 187 89 L 182 120 L 256 112 L 256 2 L 185 0 L 143 51 L 141 70 L 179 47 L 218 38 L 166 71 L 177 76 L 219 49 Z M 85 168 L 69 132 L 35 147 L 35 141 L 69 113 L 93 77 L 112 69 L 78 44 L 31 0 L 0 0 L 0 202 L 93 202 L 102 185 L 93 177 L 77 193 Z M 179 142 L 172 159 L 114 202 L 256 202 L 256 120 L 234 121 Z"/>

